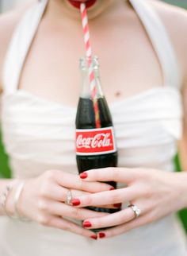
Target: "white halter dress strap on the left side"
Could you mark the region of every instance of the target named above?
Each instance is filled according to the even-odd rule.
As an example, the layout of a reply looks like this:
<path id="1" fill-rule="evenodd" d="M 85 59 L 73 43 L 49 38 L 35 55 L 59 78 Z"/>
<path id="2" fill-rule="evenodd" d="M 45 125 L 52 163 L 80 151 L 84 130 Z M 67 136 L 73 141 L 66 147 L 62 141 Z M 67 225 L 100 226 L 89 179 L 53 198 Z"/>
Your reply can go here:
<path id="1" fill-rule="evenodd" d="M 6 93 L 17 90 L 21 69 L 47 3 L 48 0 L 42 0 L 27 10 L 13 33 L 2 72 L 2 88 Z"/>

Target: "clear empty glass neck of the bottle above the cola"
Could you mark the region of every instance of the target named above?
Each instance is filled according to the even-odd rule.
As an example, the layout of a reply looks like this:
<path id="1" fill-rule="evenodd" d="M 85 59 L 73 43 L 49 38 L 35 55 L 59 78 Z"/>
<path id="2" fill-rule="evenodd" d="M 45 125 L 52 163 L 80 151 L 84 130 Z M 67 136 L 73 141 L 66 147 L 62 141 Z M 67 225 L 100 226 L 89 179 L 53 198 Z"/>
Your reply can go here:
<path id="1" fill-rule="evenodd" d="M 99 64 L 97 61 L 97 57 L 93 57 L 91 60 L 91 67 L 93 68 L 93 84 L 96 88 L 96 98 L 102 98 L 103 92 L 101 89 L 101 80 L 100 80 L 100 74 L 99 74 Z M 88 60 L 86 58 L 82 58 L 80 60 L 80 70 L 82 74 L 82 88 L 80 97 L 83 99 L 91 99 L 92 98 L 92 89 L 90 86 L 90 68 L 88 64 Z"/>

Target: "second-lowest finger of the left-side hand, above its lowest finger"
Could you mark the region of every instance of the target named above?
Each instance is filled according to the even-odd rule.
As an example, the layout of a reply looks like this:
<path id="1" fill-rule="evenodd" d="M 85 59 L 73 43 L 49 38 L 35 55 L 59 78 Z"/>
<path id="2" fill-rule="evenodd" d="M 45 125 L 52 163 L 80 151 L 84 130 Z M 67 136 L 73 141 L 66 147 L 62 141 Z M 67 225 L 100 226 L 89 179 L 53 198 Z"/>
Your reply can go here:
<path id="1" fill-rule="evenodd" d="M 74 208 L 71 205 L 63 204 L 59 202 L 48 202 L 50 208 L 43 209 L 43 211 L 48 211 L 51 215 L 63 215 L 63 217 L 73 218 L 73 219 L 88 219 L 88 218 L 100 218 L 102 216 L 108 215 L 108 213 L 91 211 L 85 208 Z"/>

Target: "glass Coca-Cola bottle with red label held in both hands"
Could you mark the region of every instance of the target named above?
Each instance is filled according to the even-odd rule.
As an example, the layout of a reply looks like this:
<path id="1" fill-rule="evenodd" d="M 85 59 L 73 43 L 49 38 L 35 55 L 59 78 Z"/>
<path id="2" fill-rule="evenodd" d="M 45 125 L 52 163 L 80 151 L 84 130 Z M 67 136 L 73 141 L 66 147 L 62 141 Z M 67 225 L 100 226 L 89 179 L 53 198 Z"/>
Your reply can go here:
<path id="1" fill-rule="evenodd" d="M 116 167 L 117 165 L 113 121 L 105 96 L 101 90 L 99 64 L 96 56 L 91 60 L 91 64 L 94 72 L 94 83 L 97 91 L 97 109 L 101 127 L 97 128 L 96 126 L 96 113 L 93 107 L 92 91 L 90 87 L 88 58 L 81 58 L 82 90 L 76 116 L 76 159 L 79 173 L 90 169 Z M 116 188 L 114 181 L 107 183 Z M 108 213 L 117 211 L 116 209 L 107 208 L 91 207 L 91 209 Z"/>

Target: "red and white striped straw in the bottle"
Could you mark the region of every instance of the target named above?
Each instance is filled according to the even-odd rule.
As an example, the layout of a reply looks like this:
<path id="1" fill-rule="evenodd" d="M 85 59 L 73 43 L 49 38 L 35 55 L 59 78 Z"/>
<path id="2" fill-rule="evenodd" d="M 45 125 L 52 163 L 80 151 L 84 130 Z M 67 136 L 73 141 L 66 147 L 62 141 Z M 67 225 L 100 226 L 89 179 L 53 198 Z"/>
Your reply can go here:
<path id="1" fill-rule="evenodd" d="M 98 102 L 97 102 L 97 87 L 95 83 L 95 74 L 93 71 L 93 64 L 92 64 L 92 49 L 90 45 L 88 16 L 86 11 L 86 4 L 83 2 L 80 5 L 80 11 L 81 11 L 81 18 L 82 18 L 82 28 L 84 33 L 84 42 L 85 42 L 85 48 L 86 48 L 86 57 L 88 59 L 88 66 L 89 66 L 90 89 L 91 89 L 91 98 L 93 100 L 95 123 L 96 123 L 96 127 L 100 128 L 101 122 L 100 122 L 99 108 L 98 108 Z"/>

